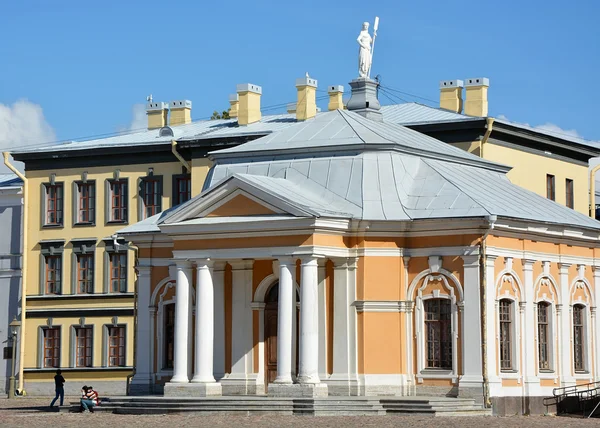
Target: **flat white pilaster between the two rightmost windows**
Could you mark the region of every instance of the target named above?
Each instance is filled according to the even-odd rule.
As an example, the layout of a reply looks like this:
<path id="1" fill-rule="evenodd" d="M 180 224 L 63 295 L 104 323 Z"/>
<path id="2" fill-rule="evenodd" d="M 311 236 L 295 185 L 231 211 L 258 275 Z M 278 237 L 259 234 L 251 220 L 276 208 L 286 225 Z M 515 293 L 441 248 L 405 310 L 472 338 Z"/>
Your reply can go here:
<path id="1" fill-rule="evenodd" d="M 570 264 L 560 263 L 560 386 L 574 384 L 571 364 L 571 304 L 569 296 L 569 267 Z M 559 309 L 557 307 L 557 309 Z"/>

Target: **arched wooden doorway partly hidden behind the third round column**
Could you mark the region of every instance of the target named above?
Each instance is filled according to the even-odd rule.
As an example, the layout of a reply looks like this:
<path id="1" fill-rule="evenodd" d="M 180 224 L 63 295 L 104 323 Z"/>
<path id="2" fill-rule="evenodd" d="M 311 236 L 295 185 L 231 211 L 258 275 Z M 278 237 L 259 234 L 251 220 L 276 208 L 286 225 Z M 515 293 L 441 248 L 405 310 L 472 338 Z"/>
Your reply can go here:
<path id="1" fill-rule="evenodd" d="M 298 337 L 299 311 L 298 302 L 300 296 L 296 290 L 296 332 Z M 265 295 L 265 323 L 264 323 L 264 343 L 265 343 L 265 389 L 269 383 L 277 377 L 277 310 L 279 300 L 279 282 L 275 282 Z M 298 373 L 298 346 L 296 346 L 296 367 L 294 367 L 293 376 Z"/>

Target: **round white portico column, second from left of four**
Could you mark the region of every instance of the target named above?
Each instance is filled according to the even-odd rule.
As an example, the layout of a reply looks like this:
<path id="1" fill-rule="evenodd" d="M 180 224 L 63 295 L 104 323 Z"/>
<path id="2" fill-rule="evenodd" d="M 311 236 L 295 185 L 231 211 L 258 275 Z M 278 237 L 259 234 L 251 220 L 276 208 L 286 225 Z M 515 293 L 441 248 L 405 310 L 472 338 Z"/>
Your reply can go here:
<path id="1" fill-rule="evenodd" d="M 196 260 L 196 348 L 192 382 L 214 383 L 214 289 L 212 262 Z"/>

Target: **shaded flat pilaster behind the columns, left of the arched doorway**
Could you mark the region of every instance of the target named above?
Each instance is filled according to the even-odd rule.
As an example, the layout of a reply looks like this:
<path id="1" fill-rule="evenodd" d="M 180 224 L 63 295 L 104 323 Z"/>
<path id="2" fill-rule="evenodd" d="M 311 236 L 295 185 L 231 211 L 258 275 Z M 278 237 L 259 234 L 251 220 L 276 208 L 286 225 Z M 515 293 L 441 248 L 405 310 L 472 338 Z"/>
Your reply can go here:
<path id="1" fill-rule="evenodd" d="M 231 374 L 228 381 L 238 382 L 247 393 L 248 375 L 253 372 L 252 347 L 252 260 L 230 262 L 232 267 L 231 298 Z"/>

